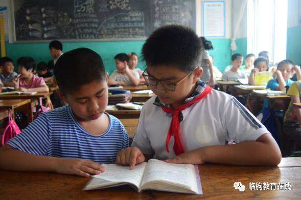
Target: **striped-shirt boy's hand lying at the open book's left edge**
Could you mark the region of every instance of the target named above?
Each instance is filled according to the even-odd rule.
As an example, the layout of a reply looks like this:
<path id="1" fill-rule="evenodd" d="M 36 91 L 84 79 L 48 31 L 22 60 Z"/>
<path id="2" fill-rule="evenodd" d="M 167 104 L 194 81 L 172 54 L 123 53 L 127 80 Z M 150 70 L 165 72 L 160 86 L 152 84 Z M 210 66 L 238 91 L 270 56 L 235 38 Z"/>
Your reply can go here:
<path id="1" fill-rule="evenodd" d="M 94 161 L 80 158 L 61 158 L 56 165 L 56 172 L 60 174 L 89 177 L 104 172 L 104 167 Z"/>

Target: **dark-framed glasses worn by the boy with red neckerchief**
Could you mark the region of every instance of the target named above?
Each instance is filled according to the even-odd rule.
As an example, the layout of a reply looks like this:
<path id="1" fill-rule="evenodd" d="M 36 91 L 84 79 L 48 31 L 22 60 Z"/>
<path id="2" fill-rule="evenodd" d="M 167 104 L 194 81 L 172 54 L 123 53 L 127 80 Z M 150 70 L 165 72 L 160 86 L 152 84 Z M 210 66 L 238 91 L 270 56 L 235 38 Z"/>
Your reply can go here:
<path id="1" fill-rule="evenodd" d="M 143 77 L 145 79 L 145 81 L 147 82 L 148 85 L 151 85 L 151 86 L 157 86 L 158 82 L 160 82 L 162 88 L 164 88 L 165 90 L 168 90 L 168 91 L 175 91 L 176 90 L 176 86 L 182 82 L 183 80 L 185 80 L 191 73 L 188 73 L 186 76 L 184 76 L 182 79 L 180 79 L 178 82 L 171 82 L 171 81 L 168 81 L 168 80 L 161 80 L 161 79 L 157 79 L 151 75 L 148 75 L 145 73 L 146 72 L 146 69 L 144 70 L 143 72 Z"/>

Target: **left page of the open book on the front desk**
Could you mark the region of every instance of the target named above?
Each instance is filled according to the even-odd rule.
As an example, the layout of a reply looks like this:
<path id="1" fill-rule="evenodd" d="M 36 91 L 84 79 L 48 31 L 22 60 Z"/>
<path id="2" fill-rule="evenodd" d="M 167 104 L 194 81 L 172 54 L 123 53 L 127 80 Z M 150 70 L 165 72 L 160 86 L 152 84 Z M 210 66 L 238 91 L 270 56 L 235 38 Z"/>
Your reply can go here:
<path id="1" fill-rule="evenodd" d="M 103 179 L 111 182 L 127 182 L 132 183 L 139 188 L 142 181 L 143 173 L 147 163 L 137 164 L 134 169 L 129 166 L 122 166 L 117 164 L 102 164 L 105 172 L 92 177 Z"/>

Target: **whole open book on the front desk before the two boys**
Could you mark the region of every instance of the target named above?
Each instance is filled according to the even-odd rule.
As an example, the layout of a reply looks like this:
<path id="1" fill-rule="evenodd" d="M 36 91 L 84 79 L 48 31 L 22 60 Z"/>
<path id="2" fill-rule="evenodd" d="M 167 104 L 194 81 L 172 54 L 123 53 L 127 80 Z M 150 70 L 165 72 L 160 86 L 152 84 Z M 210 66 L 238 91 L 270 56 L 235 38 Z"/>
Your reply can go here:
<path id="1" fill-rule="evenodd" d="M 103 164 L 105 172 L 94 175 L 83 190 L 131 185 L 138 192 L 160 190 L 179 193 L 202 194 L 197 165 L 171 164 L 150 159 L 129 169 L 129 166 Z"/>

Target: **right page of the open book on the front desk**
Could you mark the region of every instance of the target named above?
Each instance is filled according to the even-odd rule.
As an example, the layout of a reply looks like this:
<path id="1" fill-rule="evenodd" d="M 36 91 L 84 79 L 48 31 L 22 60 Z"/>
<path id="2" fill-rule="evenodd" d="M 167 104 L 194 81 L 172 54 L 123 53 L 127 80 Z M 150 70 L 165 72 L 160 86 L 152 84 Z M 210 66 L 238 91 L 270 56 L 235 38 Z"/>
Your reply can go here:
<path id="1" fill-rule="evenodd" d="M 171 164 L 150 159 L 144 174 L 142 185 L 151 181 L 170 182 L 196 189 L 195 168 L 192 164 Z"/>

